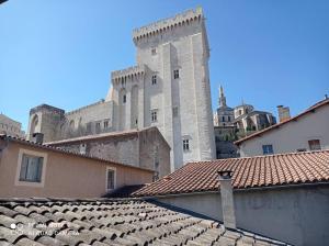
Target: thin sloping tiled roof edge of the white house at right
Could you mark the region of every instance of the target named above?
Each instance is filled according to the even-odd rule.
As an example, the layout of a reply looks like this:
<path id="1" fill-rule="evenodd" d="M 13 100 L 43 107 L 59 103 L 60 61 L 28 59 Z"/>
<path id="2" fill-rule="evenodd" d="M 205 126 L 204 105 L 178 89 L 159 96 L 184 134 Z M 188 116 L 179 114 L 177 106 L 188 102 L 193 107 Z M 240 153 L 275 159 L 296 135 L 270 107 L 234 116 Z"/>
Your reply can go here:
<path id="1" fill-rule="evenodd" d="M 303 113 L 299 113 L 298 115 L 296 115 L 294 118 L 291 118 L 291 119 L 288 119 L 286 121 L 283 121 L 283 122 L 280 122 L 277 124 L 271 125 L 270 127 L 266 127 L 264 130 L 258 131 L 258 132 L 256 132 L 256 133 L 253 133 L 253 134 L 251 134 L 249 136 L 246 136 L 246 137 L 243 137 L 241 139 L 238 139 L 238 141 L 235 142 L 235 144 L 236 145 L 240 145 L 245 141 L 251 139 L 251 138 L 253 138 L 256 136 L 260 136 L 260 135 L 265 134 L 265 133 L 268 133 L 268 132 L 270 132 L 272 130 L 280 128 L 282 125 L 284 125 L 284 124 L 286 124 L 288 122 L 292 122 L 292 121 L 297 121 L 299 118 L 305 116 L 308 113 L 315 112 L 315 110 L 317 110 L 317 109 L 319 109 L 319 108 L 321 108 L 324 105 L 328 105 L 328 104 L 329 104 L 329 99 L 325 99 L 325 100 L 316 103 L 315 105 L 308 108 Z"/>

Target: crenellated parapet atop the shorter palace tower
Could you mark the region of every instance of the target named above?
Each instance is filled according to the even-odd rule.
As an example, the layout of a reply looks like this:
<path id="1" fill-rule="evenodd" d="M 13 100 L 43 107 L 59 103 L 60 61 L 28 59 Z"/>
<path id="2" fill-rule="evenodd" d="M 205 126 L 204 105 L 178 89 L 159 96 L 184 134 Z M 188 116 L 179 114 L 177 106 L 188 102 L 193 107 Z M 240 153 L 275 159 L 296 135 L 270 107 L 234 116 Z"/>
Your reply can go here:
<path id="1" fill-rule="evenodd" d="M 120 82 L 126 82 L 127 80 L 139 80 L 145 75 L 145 66 L 134 66 L 122 70 L 115 70 L 111 72 L 111 79 L 113 85 Z"/>

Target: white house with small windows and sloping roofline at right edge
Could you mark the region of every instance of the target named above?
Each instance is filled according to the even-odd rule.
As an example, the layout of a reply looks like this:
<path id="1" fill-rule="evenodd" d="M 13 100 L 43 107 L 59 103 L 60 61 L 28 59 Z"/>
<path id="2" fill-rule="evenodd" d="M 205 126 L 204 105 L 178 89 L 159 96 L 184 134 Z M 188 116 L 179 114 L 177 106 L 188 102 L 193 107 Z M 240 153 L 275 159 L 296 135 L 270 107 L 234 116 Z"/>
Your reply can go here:
<path id="1" fill-rule="evenodd" d="M 329 100 L 235 144 L 241 157 L 328 149 Z"/>

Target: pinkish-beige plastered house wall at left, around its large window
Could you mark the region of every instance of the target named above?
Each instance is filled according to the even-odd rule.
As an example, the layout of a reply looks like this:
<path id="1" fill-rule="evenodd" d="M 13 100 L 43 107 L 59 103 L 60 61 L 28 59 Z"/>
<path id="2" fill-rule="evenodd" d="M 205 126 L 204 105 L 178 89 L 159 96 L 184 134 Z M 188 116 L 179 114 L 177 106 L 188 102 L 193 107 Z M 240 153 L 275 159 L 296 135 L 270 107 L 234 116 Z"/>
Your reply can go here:
<path id="1" fill-rule="evenodd" d="M 7 145 L 7 146 L 5 146 Z M 0 198 L 95 198 L 106 192 L 106 169 L 115 169 L 115 188 L 152 181 L 154 171 L 65 154 L 16 142 L 0 141 Z M 20 152 L 43 155 L 42 185 L 18 181 Z"/>

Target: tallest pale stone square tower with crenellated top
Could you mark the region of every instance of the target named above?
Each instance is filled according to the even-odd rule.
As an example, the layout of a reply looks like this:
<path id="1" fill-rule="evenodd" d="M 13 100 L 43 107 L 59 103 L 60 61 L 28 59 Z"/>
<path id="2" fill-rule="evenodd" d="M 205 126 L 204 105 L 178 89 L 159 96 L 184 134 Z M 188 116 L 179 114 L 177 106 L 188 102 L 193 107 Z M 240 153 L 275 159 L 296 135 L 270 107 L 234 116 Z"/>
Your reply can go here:
<path id="1" fill-rule="evenodd" d="M 209 47 L 202 9 L 134 30 L 133 40 L 137 66 L 143 67 L 138 126 L 158 126 L 171 146 L 172 168 L 215 158 Z"/>

